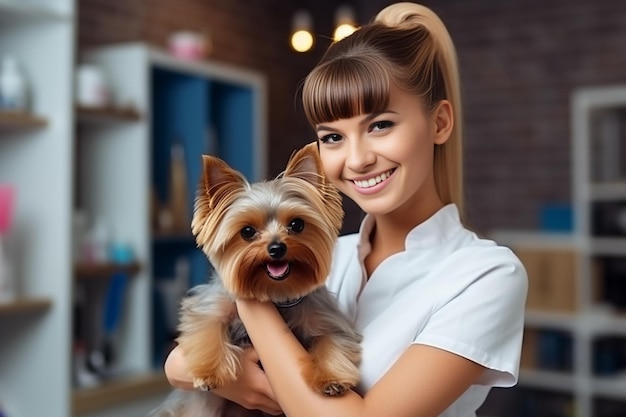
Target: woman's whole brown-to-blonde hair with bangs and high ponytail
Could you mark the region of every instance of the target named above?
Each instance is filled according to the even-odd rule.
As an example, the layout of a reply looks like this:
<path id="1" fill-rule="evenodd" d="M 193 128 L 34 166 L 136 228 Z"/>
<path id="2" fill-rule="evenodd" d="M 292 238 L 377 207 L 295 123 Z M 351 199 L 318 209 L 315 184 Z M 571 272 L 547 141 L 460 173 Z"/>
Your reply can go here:
<path id="1" fill-rule="evenodd" d="M 450 138 L 435 145 L 434 175 L 444 204 L 463 213 L 461 92 L 456 48 L 441 19 L 416 3 L 395 3 L 330 46 L 307 76 L 302 100 L 309 122 L 382 111 L 393 86 L 418 95 L 427 111 L 452 106 Z"/>

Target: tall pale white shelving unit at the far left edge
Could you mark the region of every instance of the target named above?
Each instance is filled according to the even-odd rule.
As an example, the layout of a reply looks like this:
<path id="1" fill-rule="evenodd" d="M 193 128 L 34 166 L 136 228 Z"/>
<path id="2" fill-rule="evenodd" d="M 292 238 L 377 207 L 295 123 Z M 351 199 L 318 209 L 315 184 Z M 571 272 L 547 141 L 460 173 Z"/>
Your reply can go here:
<path id="1" fill-rule="evenodd" d="M 20 286 L 20 299 L 0 306 L 0 401 L 17 417 L 71 414 L 74 17 L 70 0 L 0 1 L 0 56 L 23 67 L 37 116 L 0 116 Z"/>

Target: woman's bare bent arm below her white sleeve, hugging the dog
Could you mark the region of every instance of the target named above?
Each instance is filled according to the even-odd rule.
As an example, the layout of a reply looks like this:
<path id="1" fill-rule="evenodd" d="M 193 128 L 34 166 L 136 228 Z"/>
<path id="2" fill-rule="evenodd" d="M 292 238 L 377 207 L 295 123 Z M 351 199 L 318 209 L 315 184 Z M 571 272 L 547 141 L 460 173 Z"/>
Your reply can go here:
<path id="1" fill-rule="evenodd" d="M 447 351 L 411 345 L 364 398 L 353 391 L 326 397 L 301 375 L 308 353 L 269 303 L 238 300 L 237 308 L 274 394 L 290 417 L 435 417 L 452 404 L 485 368 Z"/>

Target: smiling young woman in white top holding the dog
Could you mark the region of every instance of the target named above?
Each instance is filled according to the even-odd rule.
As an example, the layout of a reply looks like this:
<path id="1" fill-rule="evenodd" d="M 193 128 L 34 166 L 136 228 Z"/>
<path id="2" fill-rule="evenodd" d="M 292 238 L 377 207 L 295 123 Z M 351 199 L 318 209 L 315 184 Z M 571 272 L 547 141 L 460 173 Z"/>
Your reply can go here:
<path id="1" fill-rule="evenodd" d="M 303 100 L 327 177 L 367 214 L 339 239 L 328 281 L 364 336 L 362 380 L 338 398 L 311 391 L 307 352 L 276 308 L 239 300 L 255 350 L 218 394 L 289 417 L 475 416 L 491 387 L 517 381 L 527 278 L 509 249 L 462 223 L 459 76 L 444 24 L 413 3 L 383 9 L 329 48 Z M 166 373 L 189 387 L 176 349 Z"/>

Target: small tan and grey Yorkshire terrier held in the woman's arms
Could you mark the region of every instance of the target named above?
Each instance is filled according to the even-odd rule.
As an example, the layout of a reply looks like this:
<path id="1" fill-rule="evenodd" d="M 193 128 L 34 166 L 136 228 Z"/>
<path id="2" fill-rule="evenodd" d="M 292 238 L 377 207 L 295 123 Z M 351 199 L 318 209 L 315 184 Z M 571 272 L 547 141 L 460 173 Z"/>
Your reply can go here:
<path id="1" fill-rule="evenodd" d="M 183 299 L 177 338 L 198 391 L 174 390 L 151 416 L 263 415 L 203 392 L 234 381 L 251 344 L 236 297 L 277 306 L 310 354 L 302 375 L 312 389 L 334 396 L 354 387 L 361 336 L 324 285 L 344 213 L 317 144 L 294 153 L 272 181 L 250 184 L 212 156 L 203 164 L 191 229 L 215 274 Z"/>

